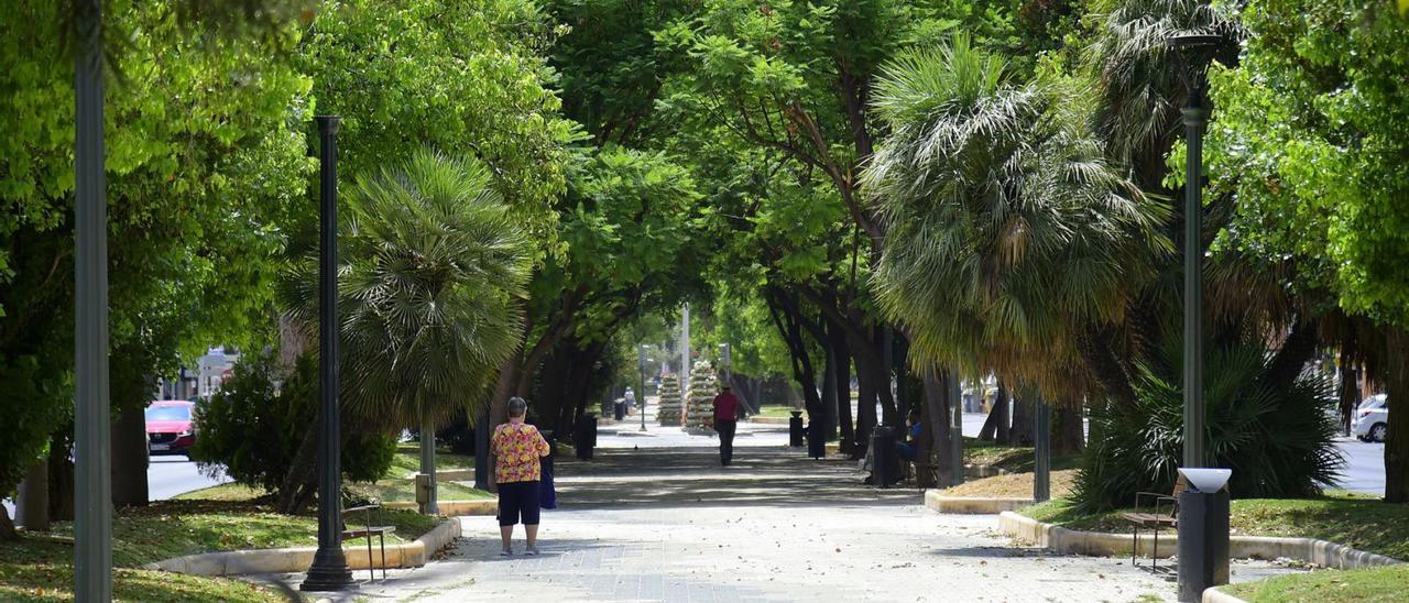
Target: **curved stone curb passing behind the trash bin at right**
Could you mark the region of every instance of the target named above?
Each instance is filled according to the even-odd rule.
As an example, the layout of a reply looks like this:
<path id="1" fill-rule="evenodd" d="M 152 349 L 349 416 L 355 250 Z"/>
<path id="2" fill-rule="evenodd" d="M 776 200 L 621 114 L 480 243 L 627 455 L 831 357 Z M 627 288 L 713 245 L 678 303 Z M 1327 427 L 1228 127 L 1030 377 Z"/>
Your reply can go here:
<path id="1" fill-rule="evenodd" d="M 1095 531 L 1068 530 L 1037 521 L 1031 517 L 1013 511 L 1003 511 L 998 516 L 998 527 L 1005 534 L 1034 542 L 1057 552 L 1074 552 L 1093 557 L 1126 557 L 1130 555 L 1129 534 L 1107 534 Z M 1138 541 L 1140 557 L 1172 557 L 1178 542 L 1174 534 L 1160 537 L 1160 549 L 1154 551 L 1154 538 L 1143 537 Z M 1229 538 L 1229 555 L 1233 558 L 1254 559 L 1301 559 L 1323 568 L 1355 569 L 1371 565 L 1402 564 L 1402 561 L 1379 555 L 1370 551 L 1358 551 L 1343 544 L 1329 542 L 1316 538 L 1278 538 L 1262 535 L 1234 535 Z"/>

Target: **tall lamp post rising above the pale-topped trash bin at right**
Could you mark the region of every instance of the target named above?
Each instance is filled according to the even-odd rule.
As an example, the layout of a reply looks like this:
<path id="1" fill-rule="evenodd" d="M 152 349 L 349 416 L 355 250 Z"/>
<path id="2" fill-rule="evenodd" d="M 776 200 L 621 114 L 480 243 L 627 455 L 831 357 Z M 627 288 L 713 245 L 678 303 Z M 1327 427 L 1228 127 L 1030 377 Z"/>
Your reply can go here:
<path id="1" fill-rule="evenodd" d="M 1209 123 L 1209 63 L 1223 38 L 1186 34 L 1169 38 L 1179 77 L 1188 89 L 1184 183 L 1184 466 L 1205 466 L 1203 428 L 1203 130 Z"/>

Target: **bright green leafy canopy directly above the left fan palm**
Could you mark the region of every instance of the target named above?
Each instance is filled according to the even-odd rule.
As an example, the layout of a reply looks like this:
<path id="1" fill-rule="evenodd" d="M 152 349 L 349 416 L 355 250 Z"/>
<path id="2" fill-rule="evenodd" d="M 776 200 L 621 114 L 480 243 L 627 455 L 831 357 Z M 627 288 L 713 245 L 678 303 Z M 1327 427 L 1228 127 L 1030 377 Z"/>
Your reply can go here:
<path id="1" fill-rule="evenodd" d="M 576 138 L 548 87 L 550 42 L 528 0 L 331 0 L 297 62 L 317 113 L 344 117 L 342 173 L 371 176 L 426 147 L 476 158 L 520 224 L 547 242 L 565 144 Z"/>

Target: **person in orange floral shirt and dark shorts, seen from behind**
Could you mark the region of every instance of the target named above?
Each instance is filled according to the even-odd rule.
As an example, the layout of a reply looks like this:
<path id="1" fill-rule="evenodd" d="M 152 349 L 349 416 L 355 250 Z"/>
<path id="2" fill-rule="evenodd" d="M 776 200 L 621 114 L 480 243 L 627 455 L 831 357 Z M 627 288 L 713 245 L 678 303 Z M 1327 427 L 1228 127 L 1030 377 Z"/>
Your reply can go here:
<path id="1" fill-rule="evenodd" d="M 538 480 L 542 468 L 538 459 L 551 452 L 548 441 L 538 428 L 524 423 L 528 403 L 521 397 L 509 399 L 509 423 L 495 428 L 490 449 L 495 454 L 495 483 L 499 485 L 499 538 L 503 542 L 500 555 L 514 551 L 510 540 L 514 524 L 523 523 L 528 537 L 524 552 L 538 554 Z"/>

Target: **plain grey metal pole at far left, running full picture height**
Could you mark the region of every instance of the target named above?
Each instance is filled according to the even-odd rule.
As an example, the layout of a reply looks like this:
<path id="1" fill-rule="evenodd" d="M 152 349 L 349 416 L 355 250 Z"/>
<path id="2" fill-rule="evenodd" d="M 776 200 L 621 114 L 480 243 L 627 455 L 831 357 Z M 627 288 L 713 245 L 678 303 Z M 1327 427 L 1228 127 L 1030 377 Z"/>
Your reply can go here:
<path id="1" fill-rule="evenodd" d="M 113 599 L 113 478 L 108 473 L 107 179 L 103 172 L 103 3 L 73 6 L 73 595 Z"/>

